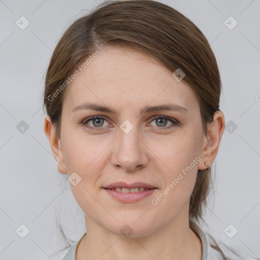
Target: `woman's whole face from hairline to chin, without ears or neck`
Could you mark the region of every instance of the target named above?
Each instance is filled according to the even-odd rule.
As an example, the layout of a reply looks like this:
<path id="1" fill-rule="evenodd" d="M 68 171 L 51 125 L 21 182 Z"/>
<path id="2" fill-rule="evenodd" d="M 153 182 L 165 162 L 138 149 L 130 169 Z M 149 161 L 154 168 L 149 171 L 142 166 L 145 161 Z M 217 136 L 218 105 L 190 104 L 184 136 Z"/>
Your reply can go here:
<path id="1" fill-rule="evenodd" d="M 66 90 L 59 141 L 66 171 L 59 170 L 74 173 L 70 186 L 87 218 L 114 234 L 144 236 L 188 221 L 206 138 L 196 95 L 172 73 L 144 54 L 106 48 Z M 173 109 L 152 109 L 166 105 Z M 137 199 L 105 189 L 114 182 L 155 188 Z"/>

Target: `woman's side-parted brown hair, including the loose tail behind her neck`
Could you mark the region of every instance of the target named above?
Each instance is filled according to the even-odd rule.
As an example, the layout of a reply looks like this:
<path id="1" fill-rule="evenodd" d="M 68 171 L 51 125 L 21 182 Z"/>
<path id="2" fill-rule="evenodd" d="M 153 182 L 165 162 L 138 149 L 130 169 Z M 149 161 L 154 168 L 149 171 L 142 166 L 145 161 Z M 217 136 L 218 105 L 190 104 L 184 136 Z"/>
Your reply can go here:
<path id="1" fill-rule="evenodd" d="M 187 17 L 165 4 L 152 0 L 104 2 L 77 19 L 63 34 L 51 57 L 45 80 L 44 105 L 60 137 L 62 100 L 50 96 L 86 58 L 103 46 L 122 47 L 145 53 L 174 72 L 196 93 L 203 131 L 219 110 L 221 81 L 215 56 L 201 32 Z M 189 219 L 203 219 L 203 206 L 211 182 L 211 168 L 198 170 L 190 197 Z"/>

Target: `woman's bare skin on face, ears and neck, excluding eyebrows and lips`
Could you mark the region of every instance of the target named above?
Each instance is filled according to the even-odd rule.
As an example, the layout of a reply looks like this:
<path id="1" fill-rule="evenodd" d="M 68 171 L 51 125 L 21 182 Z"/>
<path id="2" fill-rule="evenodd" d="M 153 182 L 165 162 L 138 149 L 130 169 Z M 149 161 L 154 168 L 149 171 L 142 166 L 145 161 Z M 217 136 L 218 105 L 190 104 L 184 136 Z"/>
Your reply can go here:
<path id="1" fill-rule="evenodd" d="M 84 102 L 105 104 L 118 115 L 93 110 L 72 112 Z M 186 108 L 187 113 L 161 110 L 139 115 L 145 106 L 170 103 Z M 179 123 L 158 122 L 154 118 L 157 115 Z M 81 124 L 90 116 L 104 117 L 103 125 L 102 121 L 87 123 L 101 131 Z M 120 129 L 125 120 L 134 127 L 128 134 Z M 86 214 L 87 235 L 78 245 L 77 260 L 202 258 L 201 241 L 189 228 L 189 198 L 198 169 L 209 167 L 217 155 L 224 115 L 217 111 L 204 135 L 199 102 L 184 80 L 176 81 L 171 71 L 145 54 L 103 48 L 66 89 L 60 139 L 49 116 L 44 130 L 58 171 L 68 176 L 76 172 L 81 177 L 77 185 L 70 183 L 75 200 Z M 204 158 L 163 200 L 152 205 L 151 200 L 201 153 Z M 102 188 L 115 181 L 141 181 L 157 189 L 139 202 L 121 203 Z M 125 224 L 133 230 L 129 237 L 120 232 Z"/>

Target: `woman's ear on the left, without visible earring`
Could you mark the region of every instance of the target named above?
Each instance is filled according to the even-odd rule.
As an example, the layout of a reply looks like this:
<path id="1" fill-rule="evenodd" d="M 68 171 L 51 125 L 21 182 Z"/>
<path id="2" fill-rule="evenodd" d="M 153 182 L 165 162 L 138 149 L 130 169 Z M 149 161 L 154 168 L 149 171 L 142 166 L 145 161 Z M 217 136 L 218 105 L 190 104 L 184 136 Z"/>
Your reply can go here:
<path id="1" fill-rule="evenodd" d="M 66 164 L 64 163 L 64 155 L 61 147 L 60 139 L 55 134 L 55 127 L 52 125 L 50 116 L 46 116 L 44 120 L 44 132 L 49 140 L 52 153 L 58 162 L 58 171 L 67 174 Z"/>

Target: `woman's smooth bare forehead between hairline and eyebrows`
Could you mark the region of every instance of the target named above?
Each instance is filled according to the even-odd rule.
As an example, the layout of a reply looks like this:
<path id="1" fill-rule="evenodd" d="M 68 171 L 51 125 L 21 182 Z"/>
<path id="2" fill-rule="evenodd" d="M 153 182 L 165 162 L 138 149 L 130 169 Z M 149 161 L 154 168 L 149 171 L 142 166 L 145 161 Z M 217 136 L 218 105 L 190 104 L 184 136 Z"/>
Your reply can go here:
<path id="1" fill-rule="evenodd" d="M 144 53 L 104 48 L 71 82 L 63 106 L 70 111 L 84 102 L 117 109 L 174 103 L 188 110 L 199 106 L 193 90 Z"/>

